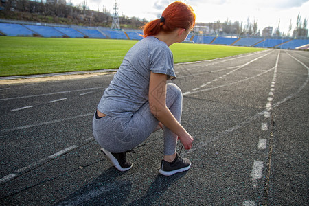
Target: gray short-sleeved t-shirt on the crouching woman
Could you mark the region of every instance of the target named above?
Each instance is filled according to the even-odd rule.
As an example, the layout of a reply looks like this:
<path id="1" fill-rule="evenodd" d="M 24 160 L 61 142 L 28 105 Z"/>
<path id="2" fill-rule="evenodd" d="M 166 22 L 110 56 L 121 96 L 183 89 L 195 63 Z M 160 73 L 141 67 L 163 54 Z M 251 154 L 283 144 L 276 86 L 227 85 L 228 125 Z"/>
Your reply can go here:
<path id="1" fill-rule="evenodd" d="M 174 60 L 168 45 L 148 36 L 126 54 L 109 87 L 104 91 L 98 110 L 115 117 L 131 117 L 148 101 L 150 71 L 174 79 Z"/>

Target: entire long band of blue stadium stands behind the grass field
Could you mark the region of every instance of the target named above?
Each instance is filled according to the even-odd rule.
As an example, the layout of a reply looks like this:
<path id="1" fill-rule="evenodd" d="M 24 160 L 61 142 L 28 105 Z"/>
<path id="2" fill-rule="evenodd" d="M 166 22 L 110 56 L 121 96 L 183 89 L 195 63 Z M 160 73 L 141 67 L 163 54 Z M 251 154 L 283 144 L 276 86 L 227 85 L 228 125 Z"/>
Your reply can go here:
<path id="1" fill-rule="evenodd" d="M 10 21 L 0 19 L 0 36 L 43 36 L 67 38 L 113 38 L 141 40 L 141 30 L 111 30 L 106 27 L 79 27 L 27 21 Z M 278 49 L 308 50 L 309 39 L 273 39 L 273 38 L 235 38 L 223 36 L 203 36 L 189 34 L 183 43 L 201 43 L 217 45 L 236 45 L 244 47 L 265 47 Z"/>

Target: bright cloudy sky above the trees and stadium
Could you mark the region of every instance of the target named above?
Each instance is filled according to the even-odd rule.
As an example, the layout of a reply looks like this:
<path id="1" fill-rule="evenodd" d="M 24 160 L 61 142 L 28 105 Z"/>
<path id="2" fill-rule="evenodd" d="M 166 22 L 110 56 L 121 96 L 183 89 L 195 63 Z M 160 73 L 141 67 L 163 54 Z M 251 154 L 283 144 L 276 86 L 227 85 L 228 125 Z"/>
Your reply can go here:
<path id="1" fill-rule="evenodd" d="M 68 0 L 67 0 L 68 1 Z M 83 0 L 69 0 L 73 5 L 81 5 Z M 105 7 L 113 14 L 115 0 L 86 0 L 91 10 L 102 12 Z M 137 17 L 148 21 L 158 19 L 170 0 L 117 0 L 119 16 Z M 184 0 L 196 12 L 196 22 L 211 23 L 215 21 L 247 20 L 253 23 L 258 20 L 260 33 L 264 27 L 271 26 L 273 31 L 278 27 L 280 32 L 288 33 L 290 21 L 292 31 L 296 27 L 297 15 L 301 22 L 309 20 L 309 0 Z M 279 23 L 280 22 L 280 23 Z M 309 23 L 307 29 L 309 28 Z"/>

